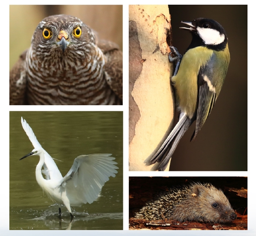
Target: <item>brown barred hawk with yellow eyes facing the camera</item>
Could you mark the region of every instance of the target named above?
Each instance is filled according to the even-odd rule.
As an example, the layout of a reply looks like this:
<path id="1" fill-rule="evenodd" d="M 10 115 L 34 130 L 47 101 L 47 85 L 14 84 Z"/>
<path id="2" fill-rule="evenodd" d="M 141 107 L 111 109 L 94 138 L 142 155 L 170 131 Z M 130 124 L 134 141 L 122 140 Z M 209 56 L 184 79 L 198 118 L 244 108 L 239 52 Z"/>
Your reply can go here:
<path id="1" fill-rule="evenodd" d="M 46 17 L 10 71 L 15 104 L 122 104 L 122 52 L 76 17 Z"/>

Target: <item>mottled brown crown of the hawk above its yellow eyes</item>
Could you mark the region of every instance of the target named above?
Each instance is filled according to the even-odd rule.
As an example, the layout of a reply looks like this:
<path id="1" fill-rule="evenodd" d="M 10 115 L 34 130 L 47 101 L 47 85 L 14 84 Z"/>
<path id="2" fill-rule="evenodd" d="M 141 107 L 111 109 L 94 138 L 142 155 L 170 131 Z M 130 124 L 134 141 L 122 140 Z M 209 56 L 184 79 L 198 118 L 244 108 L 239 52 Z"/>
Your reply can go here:
<path id="1" fill-rule="evenodd" d="M 51 17 L 46 17 L 43 19 L 38 28 L 42 29 L 44 27 L 53 27 L 57 29 L 61 28 L 73 28 L 75 26 L 82 26 L 83 22 L 79 20 L 77 17 L 67 16 L 67 15 L 55 15 Z"/>

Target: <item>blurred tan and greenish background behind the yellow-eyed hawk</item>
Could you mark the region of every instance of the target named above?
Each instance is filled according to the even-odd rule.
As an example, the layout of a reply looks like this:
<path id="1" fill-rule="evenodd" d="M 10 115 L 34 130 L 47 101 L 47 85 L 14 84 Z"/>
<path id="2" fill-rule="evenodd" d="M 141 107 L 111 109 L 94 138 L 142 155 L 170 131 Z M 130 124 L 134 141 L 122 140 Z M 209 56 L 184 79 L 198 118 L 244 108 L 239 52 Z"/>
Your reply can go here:
<path id="1" fill-rule="evenodd" d="M 10 69 L 30 46 L 38 23 L 54 14 L 78 17 L 122 50 L 122 5 L 10 5 Z"/>

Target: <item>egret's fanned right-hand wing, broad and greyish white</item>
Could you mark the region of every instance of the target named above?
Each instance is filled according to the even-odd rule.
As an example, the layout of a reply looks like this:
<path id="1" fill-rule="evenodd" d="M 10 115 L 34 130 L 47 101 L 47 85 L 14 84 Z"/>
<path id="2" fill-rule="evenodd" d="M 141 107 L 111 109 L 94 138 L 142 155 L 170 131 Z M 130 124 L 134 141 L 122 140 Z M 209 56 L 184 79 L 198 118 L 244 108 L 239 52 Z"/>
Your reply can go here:
<path id="1" fill-rule="evenodd" d="M 74 160 L 68 174 L 63 177 L 62 186 L 71 206 L 94 202 L 102 186 L 115 177 L 118 167 L 111 154 L 81 155 Z"/>

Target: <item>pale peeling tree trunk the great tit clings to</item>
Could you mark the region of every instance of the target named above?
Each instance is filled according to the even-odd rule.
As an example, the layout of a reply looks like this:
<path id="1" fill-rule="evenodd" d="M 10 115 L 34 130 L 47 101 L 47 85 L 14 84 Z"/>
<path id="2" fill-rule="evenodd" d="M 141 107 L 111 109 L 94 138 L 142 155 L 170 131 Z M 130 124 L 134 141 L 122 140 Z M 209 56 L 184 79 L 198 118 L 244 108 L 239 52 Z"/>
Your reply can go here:
<path id="1" fill-rule="evenodd" d="M 173 126 L 170 22 L 168 5 L 129 6 L 130 171 L 158 169 L 159 163 L 149 161 Z"/>

